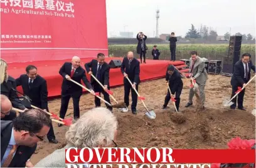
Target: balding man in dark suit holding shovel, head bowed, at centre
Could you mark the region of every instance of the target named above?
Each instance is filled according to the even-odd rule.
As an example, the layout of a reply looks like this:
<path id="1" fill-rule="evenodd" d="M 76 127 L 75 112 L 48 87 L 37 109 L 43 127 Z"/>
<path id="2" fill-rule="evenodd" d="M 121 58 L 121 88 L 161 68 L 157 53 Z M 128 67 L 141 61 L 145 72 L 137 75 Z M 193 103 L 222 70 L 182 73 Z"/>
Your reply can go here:
<path id="1" fill-rule="evenodd" d="M 126 106 L 129 106 L 129 94 L 132 87 L 136 88 L 138 91 L 139 89 L 139 83 L 141 80 L 139 79 L 139 73 L 140 73 L 140 64 L 137 59 L 134 59 L 134 54 L 132 51 L 129 51 L 127 53 L 127 57 L 124 58 L 121 64 L 121 72 L 124 75 L 124 102 Z M 126 79 L 126 76 L 131 80 L 132 86 L 130 82 Z M 137 106 L 137 94 L 132 89 L 132 114 L 137 114 L 136 112 L 136 106 Z M 122 111 L 127 111 L 127 108 L 122 109 Z"/>

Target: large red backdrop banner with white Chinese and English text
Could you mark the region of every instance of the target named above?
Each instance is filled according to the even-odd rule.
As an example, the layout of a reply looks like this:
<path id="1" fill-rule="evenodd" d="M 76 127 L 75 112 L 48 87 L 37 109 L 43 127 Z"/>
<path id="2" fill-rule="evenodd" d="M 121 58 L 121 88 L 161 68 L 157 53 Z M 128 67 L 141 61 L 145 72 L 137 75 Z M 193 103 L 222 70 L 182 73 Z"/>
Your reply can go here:
<path id="1" fill-rule="evenodd" d="M 1 0 L 1 57 L 8 62 L 108 55 L 104 0 Z"/>

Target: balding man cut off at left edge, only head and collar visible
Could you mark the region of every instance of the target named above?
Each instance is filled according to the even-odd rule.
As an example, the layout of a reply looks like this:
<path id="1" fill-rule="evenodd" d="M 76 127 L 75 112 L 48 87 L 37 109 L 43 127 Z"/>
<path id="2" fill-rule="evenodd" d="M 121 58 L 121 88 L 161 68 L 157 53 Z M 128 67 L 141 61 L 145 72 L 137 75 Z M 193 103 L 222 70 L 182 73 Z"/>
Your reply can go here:
<path id="1" fill-rule="evenodd" d="M 12 108 L 8 97 L 1 94 L 1 120 L 12 121 L 16 117 L 16 112 L 11 111 Z"/>

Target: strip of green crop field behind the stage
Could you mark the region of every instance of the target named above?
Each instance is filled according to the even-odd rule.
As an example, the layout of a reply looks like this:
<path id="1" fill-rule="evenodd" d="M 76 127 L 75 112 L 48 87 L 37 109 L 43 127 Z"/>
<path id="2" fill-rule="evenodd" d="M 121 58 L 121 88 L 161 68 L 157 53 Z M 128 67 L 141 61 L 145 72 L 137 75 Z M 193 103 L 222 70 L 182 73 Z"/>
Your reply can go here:
<path id="1" fill-rule="evenodd" d="M 147 44 L 149 50 L 147 51 L 147 59 L 151 59 L 151 50 L 154 44 Z M 133 51 L 136 54 L 137 44 L 114 44 L 109 45 L 109 55 L 112 57 L 125 56 L 127 51 Z M 160 59 L 170 59 L 169 44 L 158 44 L 157 48 L 161 51 Z M 188 59 L 189 52 L 196 50 L 200 57 L 208 59 L 222 59 L 228 54 L 228 44 L 178 44 L 176 47 L 176 59 Z M 249 52 L 252 54 L 252 59 L 255 61 L 255 44 L 242 44 L 241 52 Z M 136 54 L 137 55 L 137 54 Z M 138 56 L 137 56 L 138 57 Z"/>

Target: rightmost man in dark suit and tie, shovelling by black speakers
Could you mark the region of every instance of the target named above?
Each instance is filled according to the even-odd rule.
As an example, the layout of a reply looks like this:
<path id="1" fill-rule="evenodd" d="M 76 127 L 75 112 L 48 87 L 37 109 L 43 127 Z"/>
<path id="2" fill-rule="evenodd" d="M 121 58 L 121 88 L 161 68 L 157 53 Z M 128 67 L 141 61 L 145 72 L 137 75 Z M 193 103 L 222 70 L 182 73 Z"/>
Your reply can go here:
<path id="1" fill-rule="evenodd" d="M 255 72 L 255 66 L 250 61 L 251 55 L 249 53 L 245 53 L 242 55 L 242 59 L 237 61 L 234 66 L 233 76 L 231 78 L 230 84 L 232 85 L 232 95 L 235 95 L 238 87 L 243 87 L 250 80 L 250 71 L 251 69 Z M 245 95 L 245 89 L 238 94 L 238 99 L 235 97 L 232 102 L 232 106 L 230 109 L 235 109 L 238 104 L 238 109 L 245 111 L 246 109 L 243 107 L 243 96 Z"/>

